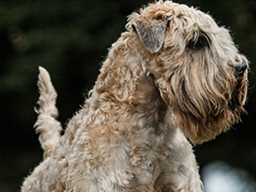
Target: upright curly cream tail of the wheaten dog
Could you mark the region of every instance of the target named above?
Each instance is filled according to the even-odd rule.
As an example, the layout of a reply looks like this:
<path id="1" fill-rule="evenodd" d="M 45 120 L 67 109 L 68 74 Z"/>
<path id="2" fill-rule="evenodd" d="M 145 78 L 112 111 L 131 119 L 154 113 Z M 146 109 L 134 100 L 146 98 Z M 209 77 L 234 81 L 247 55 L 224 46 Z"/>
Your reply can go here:
<path id="1" fill-rule="evenodd" d="M 39 67 L 38 88 L 40 97 L 38 99 L 38 118 L 34 127 L 36 133 L 40 133 L 39 141 L 44 149 L 44 159 L 50 157 L 54 147 L 61 137 L 62 127 L 56 120 L 58 109 L 56 108 L 57 93 L 51 83 L 51 77 L 45 68 Z"/>

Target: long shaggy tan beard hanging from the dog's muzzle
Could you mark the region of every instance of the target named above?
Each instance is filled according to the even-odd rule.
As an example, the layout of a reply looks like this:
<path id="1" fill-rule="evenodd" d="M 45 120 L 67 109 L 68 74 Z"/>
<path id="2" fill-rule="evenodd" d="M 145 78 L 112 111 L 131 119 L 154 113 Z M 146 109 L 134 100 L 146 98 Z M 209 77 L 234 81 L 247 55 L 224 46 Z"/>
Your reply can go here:
<path id="1" fill-rule="evenodd" d="M 170 77 L 156 84 L 176 124 L 196 144 L 214 139 L 240 120 L 247 86 L 246 74 L 237 80 L 231 67 L 216 68 L 216 63 L 202 58 L 193 61 L 189 70 L 171 70 Z"/>

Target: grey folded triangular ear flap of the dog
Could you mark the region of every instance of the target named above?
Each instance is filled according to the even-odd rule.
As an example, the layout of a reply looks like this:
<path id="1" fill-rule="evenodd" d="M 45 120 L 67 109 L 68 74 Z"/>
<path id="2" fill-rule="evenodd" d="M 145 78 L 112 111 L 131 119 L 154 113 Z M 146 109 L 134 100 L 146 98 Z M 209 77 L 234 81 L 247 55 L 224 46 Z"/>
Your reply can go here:
<path id="1" fill-rule="evenodd" d="M 132 24 L 132 28 L 140 37 L 151 53 L 158 52 L 163 46 L 165 31 L 168 20 L 137 20 Z"/>

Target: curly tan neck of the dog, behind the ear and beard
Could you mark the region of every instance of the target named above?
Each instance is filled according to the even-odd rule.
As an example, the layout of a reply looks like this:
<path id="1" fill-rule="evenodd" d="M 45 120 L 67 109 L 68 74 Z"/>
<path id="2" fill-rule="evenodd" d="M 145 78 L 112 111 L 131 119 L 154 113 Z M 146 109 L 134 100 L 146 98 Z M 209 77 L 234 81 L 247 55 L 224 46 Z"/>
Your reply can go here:
<path id="1" fill-rule="evenodd" d="M 138 129 L 146 124 L 158 126 L 166 121 L 168 107 L 145 68 L 147 63 L 141 56 L 145 54 L 145 49 L 134 49 L 140 46 L 132 45 L 132 38 L 135 37 L 127 32 L 113 44 L 89 100 L 94 106 L 103 106 L 101 111 L 108 113 L 111 110 L 112 114 L 116 111 L 127 121 L 136 120 L 142 124 L 138 125 Z"/>

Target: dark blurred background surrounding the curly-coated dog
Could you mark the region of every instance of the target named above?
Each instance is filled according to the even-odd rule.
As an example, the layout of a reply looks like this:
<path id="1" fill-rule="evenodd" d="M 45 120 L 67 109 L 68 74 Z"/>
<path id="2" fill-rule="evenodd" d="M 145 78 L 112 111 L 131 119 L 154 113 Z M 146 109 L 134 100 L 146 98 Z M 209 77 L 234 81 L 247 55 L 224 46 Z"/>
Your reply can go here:
<path id="1" fill-rule="evenodd" d="M 208 12 L 230 29 L 250 60 L 243 122 L 195 147 L 206 192 L 256 191 L 256 1 L 178 0 Z M 38 66 L 59 93 L 63 125 L 92 89 L 108 48 L 125 31 L 127 15 L 148 0 L 0 1 L 0 192 L 19 191 L 42 161 L 33 124 Z"/>

